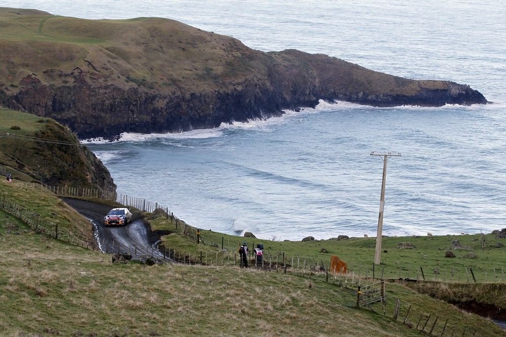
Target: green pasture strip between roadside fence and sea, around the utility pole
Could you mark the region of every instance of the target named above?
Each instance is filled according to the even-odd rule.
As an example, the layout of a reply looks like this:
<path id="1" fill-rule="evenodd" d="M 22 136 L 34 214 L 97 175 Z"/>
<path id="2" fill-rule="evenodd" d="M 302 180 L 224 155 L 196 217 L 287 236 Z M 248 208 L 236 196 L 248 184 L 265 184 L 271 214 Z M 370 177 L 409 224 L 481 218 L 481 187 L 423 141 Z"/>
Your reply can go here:
<path id="1" fill-rule="evenodd" d="M 162 237 L 162 245 L 166 248 L 176 249 L 191 253 L 192 256 L 203 251 L 210 257 L 215 254 L 212 246 L 217 245 L 221 249 L 222 238 L 225 256 L 234 253 L 242 242 L 246 241 L 253 248 L 256 244 L 263 244 L 266 259 L 271 262 L 285 263 L 296 268 L 299 264 L 302 269 L 304 261 L 313 266 L 316 264 L 327 266 L 330 256 L 338 255 L 356 273 L 366 273 L 371 276 L 376 240 L 374 237 L 352 237 L 345 240 L 314 240 L 310 242 L 277 241 L 257 238 L 239 237 L 222 234 L 210 230 L 201 230 L 201 237 L 206 246 L 197 246 L 193 240 L 176 232 L 175 222 L 165 219 L 163 216 L 149 219 L 153 230 L 170 233 Z M 179 228 L 184 224 L 178 222 Z M 338 236 L 337 234 L 335 236 Z M 452 249 L 453 241 L 459 240 L 464 249 Z M 410 243 L 413 249 L 398 249 L 399 244 Z M 503 247 L 498 247 L 500 244 Z M 381 266 L 376 266 L 375 276 L 384 273 L 384 278 L 411 278 L 427 280 L 442 280 L 453 282 L 473 282 L 471 269 L 478 281 L 503 282 L 506 281 L 506 239 L 496 238 L 493 234 L 467 234 L 467 235 L 442 235 L 442 236 L 407 236 L 407 237 L 384 237 L 382 240 Z M 324 250 L 322 252 L 322 250 Z M 446 252 L 454 253 L 454 258 L 445 257 Z M 197 254 L 196 254 L 197 253 Z M 210 259 L 210 258 L 209 258 Z M 216 258 L 214 258 L 216 260 Z M 421 269 L 420 269 L 421 267 Z M 307 268 L 307 267 L 306 267 Z M 467 270 L 466 270 L 467 268 Z M 502 269 L 501 269 L 502 268 Z M 422 275 L 422 271 L 424 275 Z M 506 302 L 506 297 L 503 298 Z"/>

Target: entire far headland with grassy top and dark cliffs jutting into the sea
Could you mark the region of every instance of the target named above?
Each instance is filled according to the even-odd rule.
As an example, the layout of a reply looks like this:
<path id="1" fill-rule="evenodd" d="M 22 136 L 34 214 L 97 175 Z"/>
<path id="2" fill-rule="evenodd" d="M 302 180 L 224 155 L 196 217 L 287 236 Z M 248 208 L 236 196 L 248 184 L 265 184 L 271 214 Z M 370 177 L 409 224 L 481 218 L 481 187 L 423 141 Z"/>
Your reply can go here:
<path id="1" fill-rule="evenodd" d="M 0 105 L 79 137 L 211 128 L 314 107 L 485 104 L 449 81 L 410 80 L 321 54 L 264 53 L 161 18 L 83 20 L 0 8 Z"/>

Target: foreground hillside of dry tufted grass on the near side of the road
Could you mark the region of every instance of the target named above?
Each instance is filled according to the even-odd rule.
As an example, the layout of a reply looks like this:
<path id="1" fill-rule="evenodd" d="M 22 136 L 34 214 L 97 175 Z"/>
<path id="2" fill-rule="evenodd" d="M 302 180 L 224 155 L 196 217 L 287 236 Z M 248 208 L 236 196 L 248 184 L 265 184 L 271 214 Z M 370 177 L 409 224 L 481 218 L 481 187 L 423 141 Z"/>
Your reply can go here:
<path id="1" fill-rule="evenodd" d="M 86 220 L 45 190 L 2 181 L 0 193 L 59 221 L 62 228 L 82 224 L 79 228 L 86 230 Z M 353 249 L 353 240 L 339 243 L 345 243 L 339 248 L 343 254 L 359 251 Z M 306 243 L 273 244 L 290 252 Z M 312 254 L 311 247 L 304 252 Z M 322 275 L 308 278 L 226 265 L 111 264 L 110 255 L 36 234 L 2 211 L 0 255 L 0 335 L 409 336 L 421 334 L 417 321 L 429 314 L 429 325 L 435 314 L 439 317 L 434 335 L 447 319 L 447 333 L 455 329 L 461 335 L 465 324 L 468 334 L 476 330 L 476 335 L 503 335 L 486 319 L 395 283 L 387 284 L 383 315 L 378 305 L 378 314 L 355 308 L 356 296 L 339 285 L 339 278 L 325 282 Z M 396 299 L 401 300 L 397 321 L 392 319 Z M 410 305 L 407 323 L 402 324 Z M 427 326 L 426 333 L 429 330 Z"/>

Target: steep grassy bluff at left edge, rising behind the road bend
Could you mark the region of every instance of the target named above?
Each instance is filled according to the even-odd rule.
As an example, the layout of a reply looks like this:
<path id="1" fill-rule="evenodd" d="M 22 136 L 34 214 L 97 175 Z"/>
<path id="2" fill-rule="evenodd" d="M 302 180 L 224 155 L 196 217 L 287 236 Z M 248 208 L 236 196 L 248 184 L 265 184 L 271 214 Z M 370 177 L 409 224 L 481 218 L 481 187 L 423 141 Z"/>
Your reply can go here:
<path id="1" fill-rule="evenodd" d="M 115 190 L 109 171 L 91 151 L 78 145 L 67 127 L 50 118 L 2 108 L 0 120 L 1 174 L 10 172 L 15 179 L 49 185 Z"/>

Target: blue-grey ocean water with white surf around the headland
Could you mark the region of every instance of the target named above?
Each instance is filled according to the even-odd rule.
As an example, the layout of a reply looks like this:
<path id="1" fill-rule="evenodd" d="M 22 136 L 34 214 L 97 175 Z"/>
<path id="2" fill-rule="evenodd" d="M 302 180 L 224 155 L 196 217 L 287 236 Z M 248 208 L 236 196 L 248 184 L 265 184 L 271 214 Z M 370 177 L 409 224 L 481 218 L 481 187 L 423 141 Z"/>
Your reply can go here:
<path id="1" fill-rule="evenodd" d="M 429 1 L 3 1 L 87 19 L 156 16 L 413 79 L 471 85 L 494 104 L 373 108 L 321 102 L 279 118 L 90 143 L 118 192 L 188 223 L 268 239 L 506 227 L 506 3 Z"/>

